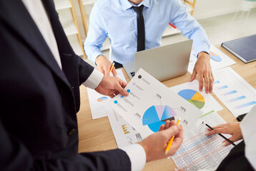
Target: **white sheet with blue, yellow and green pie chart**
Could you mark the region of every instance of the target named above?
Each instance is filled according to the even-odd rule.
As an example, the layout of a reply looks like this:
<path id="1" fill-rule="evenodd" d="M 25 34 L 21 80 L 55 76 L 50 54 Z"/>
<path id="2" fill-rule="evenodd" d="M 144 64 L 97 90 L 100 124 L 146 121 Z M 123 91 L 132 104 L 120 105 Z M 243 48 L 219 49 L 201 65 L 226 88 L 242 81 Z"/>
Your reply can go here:
<path id="1" fill-rule="evenodd" d="M 209 113 L 212 110 L 217 112 L 223 109 L 217 100 L 210 95 L 210 93 L 205 93 L 205 88 L 203 88 L 202 91 L 199 90 L 198 81 L 183 83 L 169 89 L 173 90 L 189 103 L 202 110 L 203 114 Z"/>

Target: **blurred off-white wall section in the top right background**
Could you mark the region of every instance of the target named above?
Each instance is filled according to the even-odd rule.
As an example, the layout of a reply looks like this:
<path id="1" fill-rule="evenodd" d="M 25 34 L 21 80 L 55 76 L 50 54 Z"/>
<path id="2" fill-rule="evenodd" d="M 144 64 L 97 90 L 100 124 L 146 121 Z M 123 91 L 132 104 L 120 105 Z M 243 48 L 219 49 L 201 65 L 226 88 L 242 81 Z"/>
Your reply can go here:
<path id="1" fill-rule="evenodd" d="M 240 9 L 241 1 L 242 0 L 197 0 L 193 16 L 198 20 L 229 14 Z"/>

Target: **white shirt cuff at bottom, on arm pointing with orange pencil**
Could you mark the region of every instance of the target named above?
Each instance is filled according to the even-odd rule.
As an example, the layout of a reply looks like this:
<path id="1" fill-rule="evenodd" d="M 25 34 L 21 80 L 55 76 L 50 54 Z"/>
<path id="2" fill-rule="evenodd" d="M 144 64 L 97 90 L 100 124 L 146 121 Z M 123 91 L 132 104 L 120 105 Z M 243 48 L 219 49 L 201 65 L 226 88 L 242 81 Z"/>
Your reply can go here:
<path id="1" fill-rule="evenodd" d="M 131 161 L 132 171 L 142 170 L 146 164 L 146 152 L 144 148 L 139 144 L 129 145 L 121 148 L 127 152 L 129 160 Z"/>

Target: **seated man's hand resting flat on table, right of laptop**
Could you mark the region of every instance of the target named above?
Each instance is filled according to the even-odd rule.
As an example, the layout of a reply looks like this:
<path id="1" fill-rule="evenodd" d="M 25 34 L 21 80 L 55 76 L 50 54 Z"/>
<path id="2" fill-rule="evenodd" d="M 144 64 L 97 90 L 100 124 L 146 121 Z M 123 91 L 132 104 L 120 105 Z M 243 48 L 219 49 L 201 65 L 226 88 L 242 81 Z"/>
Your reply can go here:
<path id="1" fill-rule="evenodd" d="M 199 82 L 199 90 L 202 91 L 205 81 L 205 93 L 212 93 L 214 78 L 212 76 L 210 55 L 206 52 L 198 53 L 197 63 L 195 63 L 195 68 L 189 82 L 194 81 L 196 77 Z"/>

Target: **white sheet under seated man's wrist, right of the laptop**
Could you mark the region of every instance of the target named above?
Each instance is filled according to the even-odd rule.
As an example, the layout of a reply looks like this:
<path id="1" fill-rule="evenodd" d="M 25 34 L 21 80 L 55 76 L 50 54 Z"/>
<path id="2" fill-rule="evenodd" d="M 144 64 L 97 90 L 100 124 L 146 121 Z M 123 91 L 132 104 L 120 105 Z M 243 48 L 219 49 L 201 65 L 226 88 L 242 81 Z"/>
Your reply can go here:
<path id="1" fill-rule="evenodd" d="M 212 66 L 212 71 L 216 71 L 217 69 L 225 68 L 227 66 L 231 66 L 236 63 L 230 57 L 225 55 L 225 53 L 217 49 L 215 46 L 211 46 L 210 48 L 210 57 L 211 57 L 210 63 Z M 192 51 L 189 58 L 189 66 L 187 68 L 187 71 L 189 71 L 189 73 L 191 74 L 193 73 L 193 69 L 195 67 L 196 62 L 197 62 L 197 56 L 195 54 L 195 51 Z"/>

